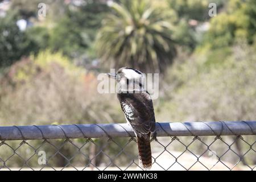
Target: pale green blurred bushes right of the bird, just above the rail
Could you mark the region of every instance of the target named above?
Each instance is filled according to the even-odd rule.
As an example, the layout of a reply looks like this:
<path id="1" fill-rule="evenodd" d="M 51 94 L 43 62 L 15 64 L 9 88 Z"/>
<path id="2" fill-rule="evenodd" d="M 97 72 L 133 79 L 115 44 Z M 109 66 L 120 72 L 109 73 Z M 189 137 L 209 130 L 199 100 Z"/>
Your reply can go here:
<path id="1" fill-rule="evenodd" d="M 254 120 L 255 46 L 240 43 L 231 51 L 221 64 L 209 65 L 208 55 L 198 54 L 170 68 L 158 116 L 171 121 Z"/>

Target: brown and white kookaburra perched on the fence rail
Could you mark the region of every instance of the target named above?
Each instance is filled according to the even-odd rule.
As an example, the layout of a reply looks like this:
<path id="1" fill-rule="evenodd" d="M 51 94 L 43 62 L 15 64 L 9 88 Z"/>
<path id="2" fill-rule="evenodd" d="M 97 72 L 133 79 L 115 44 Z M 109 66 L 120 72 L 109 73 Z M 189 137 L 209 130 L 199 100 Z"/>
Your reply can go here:
<path id="1" fill-rule="evenodd" d="M 117 97 L 126 121 L 137 136 L 139 160 L 145 169 L 152 166 L 150 136 L 155 133 L 155 114 L 150 94 L 144 89 L 144 74 L 133 68 L 108 73 L 117 81 Z"/>

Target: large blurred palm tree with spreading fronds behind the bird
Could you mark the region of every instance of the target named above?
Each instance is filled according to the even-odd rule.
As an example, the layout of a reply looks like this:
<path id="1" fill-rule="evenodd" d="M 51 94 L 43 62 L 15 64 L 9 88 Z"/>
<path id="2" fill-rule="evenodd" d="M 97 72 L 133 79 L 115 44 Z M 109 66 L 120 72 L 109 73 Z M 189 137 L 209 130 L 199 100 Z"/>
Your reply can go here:
<path id="1" fill-rule="evenodd" d="M 96 39 L 99 56 L 115 68 L 163 72 L 176 55 L 172 39 L 176 16 L 166 1 L 122 1 L 110 5 Z"/>

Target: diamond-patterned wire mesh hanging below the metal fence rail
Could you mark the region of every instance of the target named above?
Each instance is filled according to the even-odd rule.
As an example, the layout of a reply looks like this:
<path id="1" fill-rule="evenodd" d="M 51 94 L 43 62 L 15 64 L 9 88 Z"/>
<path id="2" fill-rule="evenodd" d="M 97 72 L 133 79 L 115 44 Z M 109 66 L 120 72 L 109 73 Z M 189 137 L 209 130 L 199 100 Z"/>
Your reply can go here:
<path id="1" fill-rule="evenodd" d="M 42 139 L 27 139 L 18 126 L 14 127 L 21 140 L 3 140 L 0 132 L 0 170 L 144 170 L 138 160 L 137 138 L 129 131 L 127 137 L 112 137 L 97 125 L 105 137 L 90 138 L 75 125 L 82 137 L 69 138 L 63 127 L 55 126 L 64 137 L 46 138 L 39 126 L 34 127 Z M 212 129 L 209 136 L 199 136 L 189 125 L 184 126 L 190 135 L 175 136 L 166 131 L 168 137 L 151 139 L 152 170 L 256 170 L 252 127 L 248 127 L 250 135 L 236 131 L 225 136 Z"/>

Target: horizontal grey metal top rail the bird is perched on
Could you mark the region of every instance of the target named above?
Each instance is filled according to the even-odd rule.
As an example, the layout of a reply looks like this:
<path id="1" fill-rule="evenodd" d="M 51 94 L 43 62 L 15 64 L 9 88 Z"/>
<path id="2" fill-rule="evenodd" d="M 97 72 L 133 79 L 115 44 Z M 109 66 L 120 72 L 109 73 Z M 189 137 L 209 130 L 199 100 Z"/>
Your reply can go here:
<path id="1" fill-rule="evenodd" d="M 256 135 L 256 121 L 156 123 L 157 137 Z M 135 137 L 127 123 L 2 126 L 0 140 Z"/>

